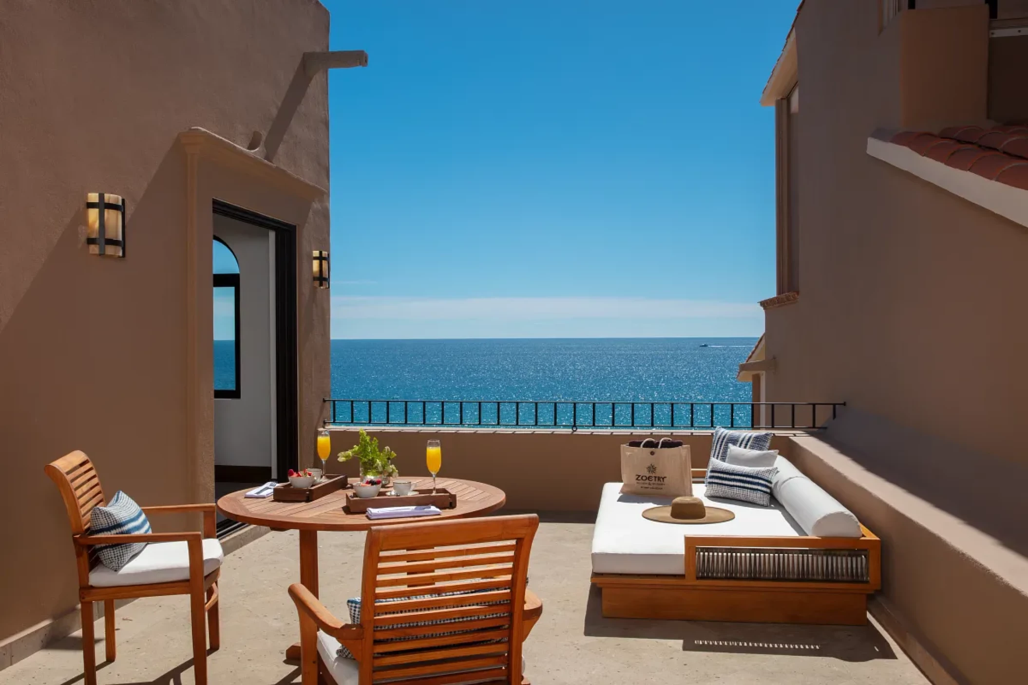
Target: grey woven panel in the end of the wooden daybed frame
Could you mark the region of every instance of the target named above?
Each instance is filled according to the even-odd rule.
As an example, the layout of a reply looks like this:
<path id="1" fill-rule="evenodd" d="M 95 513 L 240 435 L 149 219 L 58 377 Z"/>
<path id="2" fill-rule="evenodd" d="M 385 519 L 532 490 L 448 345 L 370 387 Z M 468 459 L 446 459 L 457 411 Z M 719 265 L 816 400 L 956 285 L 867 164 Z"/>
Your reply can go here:
<path id="1" fill-rule="evenodd" d="M 868 550 L 697 547 L 696 577 L 717 580 L 869 582 Z"/>

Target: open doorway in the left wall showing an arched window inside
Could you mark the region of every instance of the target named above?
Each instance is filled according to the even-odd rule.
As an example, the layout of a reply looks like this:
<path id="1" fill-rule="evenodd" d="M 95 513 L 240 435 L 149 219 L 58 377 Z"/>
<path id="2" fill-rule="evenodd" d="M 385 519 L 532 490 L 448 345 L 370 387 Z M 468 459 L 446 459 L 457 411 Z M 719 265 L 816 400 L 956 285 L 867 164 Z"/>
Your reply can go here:
<path id="1" fill-rule="evenodd" d="M 222 495 L 297 465 L 296 227 L 214 200 L 214 481 Z M 231 525 L 219 521 L 219 530 Z"/>

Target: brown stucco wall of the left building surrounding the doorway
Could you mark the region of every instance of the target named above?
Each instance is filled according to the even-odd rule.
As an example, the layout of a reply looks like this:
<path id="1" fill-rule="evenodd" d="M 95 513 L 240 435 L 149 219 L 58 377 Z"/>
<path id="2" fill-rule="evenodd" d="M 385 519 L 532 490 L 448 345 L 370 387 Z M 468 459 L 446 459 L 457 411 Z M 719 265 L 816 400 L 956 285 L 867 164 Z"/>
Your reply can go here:
<path id="1" fill-rule="evenodd" d="M 328 244 L 327 199 L 311 204 L 200 159 L 195 286 L 208 290 L 190 302 L 177 136 L 203 126 L 246 145 L 268 129 L 301 54 L 327 47 L 328 12 L 315 0 L 109 0 L 103 11 L 70 0 L 4 3 L 0 445 L 19 487 L 0 518 L 32 525 L 8 527 L 8 548 L 31 551 L 31 564 L 0 567 L 0 640 L 75 606 L 68 523 L 47 462 L 81 449 L 111 494 L 213 500 L 213 398 L 188 397 L 186 378 L 195 357 L 192 382 L 211 387 L 212 196 L 300 227 L 300 435 L 313 450 L 328 392 L 328 299 L 303 276 L 310 251 Z M 326 77 L 316 78 L 276 158 L 324 188 L 326 90 Z M 126 259 L 86 253 L 90 191 L 127 198 Z"/>

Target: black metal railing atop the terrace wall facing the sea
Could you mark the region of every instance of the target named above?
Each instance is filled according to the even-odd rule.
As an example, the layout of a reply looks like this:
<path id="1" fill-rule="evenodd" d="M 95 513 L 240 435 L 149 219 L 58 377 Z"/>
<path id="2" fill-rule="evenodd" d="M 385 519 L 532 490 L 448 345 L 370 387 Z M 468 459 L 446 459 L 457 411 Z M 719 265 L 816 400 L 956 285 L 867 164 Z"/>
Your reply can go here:
<path id="1" fill-rule="evenodd" d="M 325 425 L 493 428 L 820 428 L 846 403 L 336 399 Z"/>

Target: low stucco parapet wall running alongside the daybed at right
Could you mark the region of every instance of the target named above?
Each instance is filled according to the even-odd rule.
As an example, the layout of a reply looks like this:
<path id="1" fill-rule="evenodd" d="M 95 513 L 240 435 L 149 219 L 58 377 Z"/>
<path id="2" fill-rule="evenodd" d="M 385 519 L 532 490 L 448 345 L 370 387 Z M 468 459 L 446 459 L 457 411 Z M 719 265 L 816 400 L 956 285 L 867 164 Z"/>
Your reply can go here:
<path id="1" fill-rule="evenodd" d="M 1012 539 L 1003 534 L 1023 529 L 1022 498 L 1004 497 L 1017 490 L 1016 482 L 1000 485 L 1005 492 L 995 497 L 1005 501 L 999 507 L 980 507 L 977 516 L 968 518 L 965 515 L 976 504 L 958 493 L 962 510 L 949 511 L 908 489 L 911 483 L 924 486 L 932 480 L 923 471 L 913 480 L 911 473 L 896 474 L 910 469 L 895 462 L 917 449 L 911 445 L 910 431 L 858 414 L 844 416 L 840 423 L 851 423 L 846 427 L 852 431 L 847 432 L 858 441 L 856 431 L 873 431 L 885 440 L 874 447 L 850 447 L 835 440 L 839 431 L 833 426 L 819 435 L 793 439 L 792 460 L 881 538 L 882 592 L 878 598 L 884 600 L 880 606 L 887 607 L 898 621 L 897 642 L 935 683 L 1024 682 L 1022 637 L 1028 635 L 1025 535 L 1022 531 Z M 884 468 L 869 470 L 869 464 Z M 968 479 L 971 494 L 988 487 L 976 481 Z M 988 525 L 981 526 L 983 521 Z M 907 636 L 917 641 L 917 647 Z"/>

